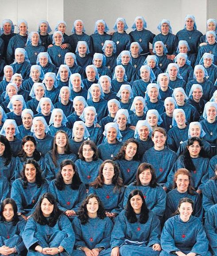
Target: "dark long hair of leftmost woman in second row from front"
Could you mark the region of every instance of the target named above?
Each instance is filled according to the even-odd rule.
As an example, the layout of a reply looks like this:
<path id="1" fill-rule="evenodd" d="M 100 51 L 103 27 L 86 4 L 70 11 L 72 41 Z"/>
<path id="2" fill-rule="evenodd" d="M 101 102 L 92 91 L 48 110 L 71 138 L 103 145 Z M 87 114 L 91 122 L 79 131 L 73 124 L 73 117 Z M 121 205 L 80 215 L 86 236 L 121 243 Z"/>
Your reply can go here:
<path id="1" fill-rule="evenodd" d="M 21 178 L 23 180 L 23 188 L 24 189 L 27 188 L 27 184 L 28 184 L 27 177 L 25 175 L 25 169 L 26 169 L 26 165 L 30 164 L 30 163 L 33 164 L 36 169 L 35 183 L 37 184 L 37 187 L 42 186 L 42 184 L 44 183 L 44 179 L 42 178 L 41 169 L 39 167 L 39 164 L 34 159 L 27 159 L 25 164 L 23 165 L 23 170 L 21 172 Z"/>

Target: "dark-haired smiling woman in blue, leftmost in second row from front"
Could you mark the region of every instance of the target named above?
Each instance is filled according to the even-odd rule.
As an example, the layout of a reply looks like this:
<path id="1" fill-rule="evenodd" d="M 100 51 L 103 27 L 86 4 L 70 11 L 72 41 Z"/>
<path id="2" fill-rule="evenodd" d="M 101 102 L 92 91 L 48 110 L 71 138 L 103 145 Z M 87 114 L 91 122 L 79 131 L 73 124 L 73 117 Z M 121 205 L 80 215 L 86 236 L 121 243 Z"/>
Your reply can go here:
<path id="1" fill-rule="evenodd" d="M 41 196 L 47 191 L 48 184 L 42 178 L 39 164 L 34 159 L 27 159 L 21 178 L 12 183 L 11 197 L 17 203 L 19 215 L 27 221 Z"/>

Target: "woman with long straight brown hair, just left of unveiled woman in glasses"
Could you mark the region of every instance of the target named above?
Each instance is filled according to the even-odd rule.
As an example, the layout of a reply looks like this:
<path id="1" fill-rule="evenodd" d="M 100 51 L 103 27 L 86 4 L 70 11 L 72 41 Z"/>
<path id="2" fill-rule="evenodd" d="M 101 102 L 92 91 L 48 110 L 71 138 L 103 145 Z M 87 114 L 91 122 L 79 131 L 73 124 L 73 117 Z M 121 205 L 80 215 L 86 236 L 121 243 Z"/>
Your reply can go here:
<path id="1" fill-rule="evenodd" d="M 64 159 L 70 159 L 75 162 L 77 156 L 71 153 L 69 138 L 66 132 L 59 130 L 54 136 L 53 149 L 45 155 L 46 162 L 46 180 L 53 180 L 60 168 L 60 164 Z"/>

